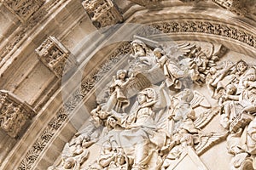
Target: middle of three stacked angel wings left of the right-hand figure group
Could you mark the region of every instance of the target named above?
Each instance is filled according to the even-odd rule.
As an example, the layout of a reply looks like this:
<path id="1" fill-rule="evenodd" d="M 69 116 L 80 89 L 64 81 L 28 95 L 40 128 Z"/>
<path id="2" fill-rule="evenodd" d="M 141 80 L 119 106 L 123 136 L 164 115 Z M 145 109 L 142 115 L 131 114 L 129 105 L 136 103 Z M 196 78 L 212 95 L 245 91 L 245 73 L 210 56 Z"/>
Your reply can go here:
<path id="1" fill-rule="evenodd" d="M 212 120 L 214 116 L 216 116 L 219 112 L 219 107 L 215 107 L 212 109 L 208 109 L 207 111 L 204 111 L 201 113 L 200 116 L 197 116 L 195 119 L 195 127 L 203 128 L 205 127 L 208 122 Z"/>

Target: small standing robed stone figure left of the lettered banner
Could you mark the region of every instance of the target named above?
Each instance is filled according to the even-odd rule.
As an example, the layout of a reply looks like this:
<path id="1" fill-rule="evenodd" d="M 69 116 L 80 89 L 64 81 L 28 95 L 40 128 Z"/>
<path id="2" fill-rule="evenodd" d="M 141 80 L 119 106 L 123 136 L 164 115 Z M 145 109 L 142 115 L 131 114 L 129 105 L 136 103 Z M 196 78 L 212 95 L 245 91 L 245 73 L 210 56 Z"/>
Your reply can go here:
<path id="1" fill-rule="evenodd" d="M 117 71 L 116 78 L 114 78 L 113 83 L 109 87 L 110 97 L 107 105 L 104 107 L 105 111 L 125 111 L 125 107 L 130 104 L 129 99 L 126 97 L 125 88 L 133 79 L 134 77 L 128 77 L 127 71 Z"/>

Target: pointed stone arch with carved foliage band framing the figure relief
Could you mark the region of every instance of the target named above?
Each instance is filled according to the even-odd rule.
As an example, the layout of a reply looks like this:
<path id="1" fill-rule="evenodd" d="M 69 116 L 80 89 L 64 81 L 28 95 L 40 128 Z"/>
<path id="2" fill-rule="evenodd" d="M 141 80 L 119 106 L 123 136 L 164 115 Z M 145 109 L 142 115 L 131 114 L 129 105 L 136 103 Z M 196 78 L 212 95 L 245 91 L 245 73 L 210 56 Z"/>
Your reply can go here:
<path id="1" fill-rule="evenodd" d="M 189 7 L 188 9 L 191 8 Z M 161 37 L 168 37 L 174 42 L 178 42 L 180 40 L 219 42 L 221 44 L 224 44 L 224 46 L 229 49 L 241 52 L 241 54 L 246 54 L 251 57 L 255 55 L 255 34 L 253 34 L 253 31 L 255 32 L 255 29 L 253 28 L 253 26 L 247 26 L 246 24 L 243 24 L 241 20 L 235 20 L 232 17 L 232 20 L 234 20 L 236 24 L 229 24 L 229 22 L 226 21 L 225 17 L 223 17 L 222 19 L 218 19 L 217 12 L 215 12 L 213 16 L 207 15 L 208 18 L 206 20 L 206 15 L 200 14 L 199 12 L 190 13 L 189 11 L 184 13 L 181 9 L 179 11 L 177 10 L 171 12 L 171 14 L 168 14 L 164 10 L 160 11 L 160 14 L 157 14 L 156 12 L 154 12 L 154 10 L 149 10 L 148 12 L 137 11 L 136 14 L 132 14 L 131 17 L 126 19 L 126 22 L 136 22 L 145 26 L 159 28 L 160 31 L 164 31 L 164 36 L 163 34 L 156 34 L 154 36 L 150 34 L 149 36 L 146 35 L 146 37 L 154 38 L 154 40 L 161 39 Z M 183 19 L 176 20 L 175 18 L 172 18 L 176 14 L 179 17 L 183 16 Z M 165 20 L 161 18 L 162 15 L 165 15 Z M 191 17 L 193 18 L 192 20 Z M 242 37 L 240 40 L 236 40 L 236 37 L 225 36 L 225 34 L 221 34 L 221 31 L 217 31 L 216 33 L 214 33 L 213 31 L 212 33 L 211 29 L 210 32 L 205 32 L 207 30 L 187 31 L 183 26 L 185 25 L 186 27 L 189 23 L 195 26 L 201 26 L 201 24 L 208 24 L 210 28 L 211 26 L 214 28 L 215 26 L 217 28 L 223 26 L 225 29 L 227 27 L 229 31 L 236 30 L 237 32 L 240 32 Z M 175 29 L 173 29 L 172 31 L 172 28 L 174 28 L 172 27 L 172 25 L 177 27 L 180 26 L 180 28 L 178 28 L 177 31 Z M 171 27 L 168 28 L 166 26 Z M 166 31 L 165 29 L 171 31 Z M 150 33 L 150 30 L 148 32 Z M 143 34 L 140 34 L 139 30 L 137 32 L 135 31 L 134 34 L 142 37 L 144 36 Z M 119 36 L 119 34 L 117 33 L 116 36 Z M 230 34 L 230 36 L 232 36 L 232 34 Z M 103 43 L 100 43 L 99 46 L 103 46 Z M 44 125 L 44 127 L 38 133 L 37 138 L 34 140 L 34 143 L 26 148 L 26 154 L 22 156 L 19 161 L 15 161 L 15 166 L 18 166 L 19 169 L 22 169 L 23 167 L 26 167 L 27 169 L 32 169 L 33 167 L 47 167 L 49 165 L 49 161 L 52 163 L 52 161 L 54 160 L 49 160 L 49 157 L 45 155 L 50 155 L 53 157 L 60 156 L 61 149 L 56 149 L 55 147 L 64 146 L 64 144 L 68 142 L 67 139 L 71 139 L 76 133 L 77 128 L 82 126 L 82 121 L 87 119 L 90 110 L 92 110 L 93 107 L 96 105 L 95 87 L 100 83 L 104 84 L 104 78 L 105 82 L 107 82 L 105 76 L 109 76 L 109 74 L 114 75 L 114 71 L 117 71 L 118 68 L 123 65 L 123 61 L 115 58 L 115 56 L 118 54 L 122 54 L 123 56 L 123 54 L 127 53 L 127 50 L 129 49 L 127 47 L 127 41 L 125 41 L 120 43 L 114 43 L 112 46 L 110 45 L 105 49 L 101 49 L 100 51 L 94 50 L 94 52 L 98 53 L 90 56 L 90 59 L 87 59 L 85 62 L 91 65 L 90 67 L 87 67 L 86 71 L 84 71 L 81 88 L 73 88 L 73 93 L 70 94 L 70 96 L 68 95 L 66 103 L 64 105 L 61 105 L 58 111 L 53 111 L 54 113 L 50 117 L 49 123 Z M 59 97 L 59 99 L 60 98 L 61 97 Z M 80 105 L 83 102 L 87 104 L 86 106 L 88 106 L 85 107 L 87 116 L 84 116 L 82 120 L 77 120 L 76 116 L 83 116 L 84 110 L 81 109 Z M 67 119 L 67 117 L 69 120 Z M 73 127 L 73 124 L 70 120 L 79 122 L 79 127 Z M 68 137 L 65 135 L 67 135 Z M 15 159 L 15 157 L 10 157 L 10 160 L 11 159 Z"/>

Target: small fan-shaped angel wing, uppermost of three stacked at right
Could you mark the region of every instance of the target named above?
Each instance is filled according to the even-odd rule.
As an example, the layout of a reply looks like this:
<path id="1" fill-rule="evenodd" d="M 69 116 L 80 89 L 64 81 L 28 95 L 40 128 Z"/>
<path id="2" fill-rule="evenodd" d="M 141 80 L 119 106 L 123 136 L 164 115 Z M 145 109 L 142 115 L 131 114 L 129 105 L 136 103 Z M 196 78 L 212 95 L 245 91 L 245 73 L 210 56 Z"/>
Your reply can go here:
<path id="1" fill-rule="evenodd" d="M 193 109 L 195 109 L 195 107 L 198 106 L 204 108 L 212 107 L 207 98 L 204 95 L 200 94 L 198 91 L 194 91 L 194 98 L 190 101 L 190 105 L 192 106 Z"/>

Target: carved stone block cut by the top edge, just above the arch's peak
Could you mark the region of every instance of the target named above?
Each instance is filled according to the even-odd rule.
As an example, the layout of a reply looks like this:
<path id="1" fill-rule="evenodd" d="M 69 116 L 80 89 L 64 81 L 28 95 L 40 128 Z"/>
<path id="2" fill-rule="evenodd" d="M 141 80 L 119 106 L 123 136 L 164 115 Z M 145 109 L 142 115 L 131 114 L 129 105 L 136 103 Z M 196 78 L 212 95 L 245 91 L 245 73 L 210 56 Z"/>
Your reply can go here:
<path id="1" fill-rule="evenodd" d="M 82 5 L 96 28 L 112 26 L 123 20 L 118 8 L 111 0 L 84 0 Z"/>

